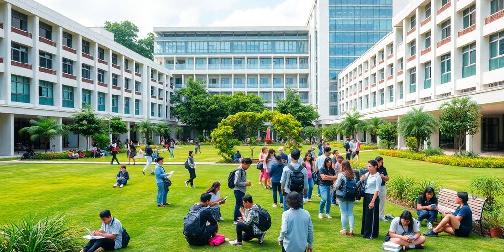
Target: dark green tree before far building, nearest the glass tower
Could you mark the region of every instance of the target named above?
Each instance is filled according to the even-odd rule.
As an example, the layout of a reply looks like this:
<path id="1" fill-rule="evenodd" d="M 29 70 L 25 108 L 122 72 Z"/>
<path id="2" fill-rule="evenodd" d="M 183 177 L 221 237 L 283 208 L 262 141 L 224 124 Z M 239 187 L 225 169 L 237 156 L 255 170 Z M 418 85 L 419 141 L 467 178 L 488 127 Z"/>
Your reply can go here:
<path id="1" fill-rule="evenodd" d="M 277 102 L 276 111 L 284 114 L 292 114 L 301 122 L 302 127 L 312 126 L 313 121 L 319 118 L 319 112 L 310 105 L 303 105 L 296 94 L 296 90 L 287 89 L 285 100 Z"/>

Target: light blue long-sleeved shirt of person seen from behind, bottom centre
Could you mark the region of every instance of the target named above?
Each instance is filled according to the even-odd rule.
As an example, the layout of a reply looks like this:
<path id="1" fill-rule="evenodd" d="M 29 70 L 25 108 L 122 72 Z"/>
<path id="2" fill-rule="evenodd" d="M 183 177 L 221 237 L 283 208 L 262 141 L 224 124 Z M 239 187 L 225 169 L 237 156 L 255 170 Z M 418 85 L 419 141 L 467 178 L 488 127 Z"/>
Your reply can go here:
<path id="1" fill-rule="evenodd" d="M 287 251 L 304 251 L 313 245 L 313 226 L 308 211 L 289 209 L 282 213 L 282 224 L 278 241 Z"/>

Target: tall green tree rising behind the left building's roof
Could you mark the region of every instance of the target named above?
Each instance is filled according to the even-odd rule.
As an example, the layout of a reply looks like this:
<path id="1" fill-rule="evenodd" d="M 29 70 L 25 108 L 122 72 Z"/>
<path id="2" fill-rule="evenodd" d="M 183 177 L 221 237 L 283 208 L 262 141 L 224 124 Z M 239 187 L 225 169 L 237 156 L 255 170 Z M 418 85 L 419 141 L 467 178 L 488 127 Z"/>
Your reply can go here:
<path id="1" fill-rule="evenodd" d="M 138 40 L 138 26 L 128 20 L 120 22 L 105 21 L 103 28 L 114 34 L 115 42 L 130 48 L 146 58 L 153 59 L 153 33 L 149 33 L 146 38 Z"/>

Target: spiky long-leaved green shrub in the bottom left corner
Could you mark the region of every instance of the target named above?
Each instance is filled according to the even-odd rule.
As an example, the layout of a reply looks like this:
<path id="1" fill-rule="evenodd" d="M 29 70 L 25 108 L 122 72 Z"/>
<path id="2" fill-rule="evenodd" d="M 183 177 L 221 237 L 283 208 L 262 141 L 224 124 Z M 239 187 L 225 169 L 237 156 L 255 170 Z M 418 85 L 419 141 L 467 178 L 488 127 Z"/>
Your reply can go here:
<path id="1" fill-rule="evenodd" d="M 20 223 L 8 223 L 0 228 L 0 251 L 78 251 L 80 240 L 68 227 L 62 214 L 38 218 L 31 215 Z"/>

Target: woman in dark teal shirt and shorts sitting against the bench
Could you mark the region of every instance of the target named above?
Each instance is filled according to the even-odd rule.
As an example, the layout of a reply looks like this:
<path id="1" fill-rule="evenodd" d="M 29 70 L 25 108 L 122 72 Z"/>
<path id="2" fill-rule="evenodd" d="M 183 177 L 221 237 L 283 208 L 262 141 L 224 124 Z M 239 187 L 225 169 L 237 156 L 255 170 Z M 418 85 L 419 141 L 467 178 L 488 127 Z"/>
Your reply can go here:
<path id="1" fill-rule="evenodd" d="M 437 236 L 438 233 L 444 231 L 459 237 L 469 236 L 472 230 L 472 211 L 467 205 L 468 200 L 469 196 L 467 193 L 457 193 L 456 202 L 459 206 L 455 212 L 446 211 L 445 218 L 434 229 L 423 234 L 425 236 Z"/>

